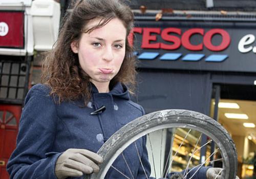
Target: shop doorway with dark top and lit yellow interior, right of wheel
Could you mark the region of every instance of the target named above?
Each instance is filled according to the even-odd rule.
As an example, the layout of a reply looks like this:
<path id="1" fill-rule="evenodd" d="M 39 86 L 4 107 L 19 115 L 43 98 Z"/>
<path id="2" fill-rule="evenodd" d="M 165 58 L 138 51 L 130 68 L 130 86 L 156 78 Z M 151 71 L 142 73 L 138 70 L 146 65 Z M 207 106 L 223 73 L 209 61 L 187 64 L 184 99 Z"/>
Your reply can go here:
<path id="1" fill-rule="evenodd" d="M 212 89 L 210 116 L 226 128 L 236 144 L 238 176 L 255 178 L 256 85 L 214 84 Z"/>

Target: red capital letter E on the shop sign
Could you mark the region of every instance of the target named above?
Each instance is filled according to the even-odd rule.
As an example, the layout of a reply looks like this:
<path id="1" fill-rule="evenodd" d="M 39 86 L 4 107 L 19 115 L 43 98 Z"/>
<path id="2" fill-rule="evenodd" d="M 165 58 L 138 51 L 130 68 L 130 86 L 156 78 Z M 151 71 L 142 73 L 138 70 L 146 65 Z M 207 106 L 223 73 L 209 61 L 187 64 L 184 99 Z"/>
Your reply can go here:
<path id="1" fill-rule="evenodd" d="M 159 49 L 160 43 L 150 43 L 150 41 L 156 41 L 157 36 L 151 35 L 151 33 L 160 34 L 160 28 L 143 28 L 143 36 L 142 36 L 142 49 Z"/>

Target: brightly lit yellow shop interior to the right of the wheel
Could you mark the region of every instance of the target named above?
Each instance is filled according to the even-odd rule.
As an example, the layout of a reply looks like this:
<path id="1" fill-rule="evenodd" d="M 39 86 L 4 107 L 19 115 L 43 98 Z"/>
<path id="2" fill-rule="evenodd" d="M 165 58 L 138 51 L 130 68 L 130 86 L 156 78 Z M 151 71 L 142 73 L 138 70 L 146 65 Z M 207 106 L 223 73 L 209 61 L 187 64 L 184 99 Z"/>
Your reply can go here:
<path id="1" fill-rule="evenodd" d="M 242 178 L 250 177 L 256 152 L 256 101 L 221 99 L 218 106 L 219 122 L 236 144 Z"/>

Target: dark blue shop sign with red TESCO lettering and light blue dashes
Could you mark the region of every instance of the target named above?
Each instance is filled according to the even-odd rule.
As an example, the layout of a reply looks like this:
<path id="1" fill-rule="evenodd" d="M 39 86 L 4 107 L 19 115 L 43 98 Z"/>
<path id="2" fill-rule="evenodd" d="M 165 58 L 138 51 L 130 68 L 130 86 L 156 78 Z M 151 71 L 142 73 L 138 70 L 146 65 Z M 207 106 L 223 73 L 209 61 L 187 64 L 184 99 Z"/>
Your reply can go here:
<path id="1" fill-rule="evenodd" d="M 129 43 L 139 68 L 255 73 L 252 24 L 138 20 Z"/>

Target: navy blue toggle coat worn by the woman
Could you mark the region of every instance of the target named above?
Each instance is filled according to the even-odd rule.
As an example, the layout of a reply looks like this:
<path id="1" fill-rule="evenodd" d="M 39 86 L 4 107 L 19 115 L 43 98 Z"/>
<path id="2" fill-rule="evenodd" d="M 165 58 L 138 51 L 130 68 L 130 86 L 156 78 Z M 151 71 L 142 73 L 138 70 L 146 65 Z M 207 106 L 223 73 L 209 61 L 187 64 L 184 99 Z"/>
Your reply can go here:
<path id="1" fill-rule="evenodd" d="M 127 88 L 121 83 L 115 85 L 110 93 L 98 93 L 93 86 L 92 98 L 86 107 L 82 107 L 82 99 L 56 104 L 49 92 L 46 85 L 37 84 L 27 94 L 19 123 L 17 146 L 7 164 L 10 178 L 57 178 L 54 172 L 55 163 L 63 151 L 82 148 L 97 152 L 115 131 L 144 115 L 143 108 L 130 100 Z M 106 107 L 103 113 L 90 115 L 102 105 Z M 140 138 L 136 144 L 149 176 L 151 169 L 146 138 Z M 123 154 L 134 178 L 145 178 L 135 145 L 129 146 Z M 131 177 L 121 155 L 113 166 Z M 200 169 L 199 175 L 205 176 L 205 171 Z M 124 176 L 111 168 L 105 178 Z"/>

